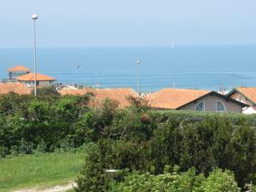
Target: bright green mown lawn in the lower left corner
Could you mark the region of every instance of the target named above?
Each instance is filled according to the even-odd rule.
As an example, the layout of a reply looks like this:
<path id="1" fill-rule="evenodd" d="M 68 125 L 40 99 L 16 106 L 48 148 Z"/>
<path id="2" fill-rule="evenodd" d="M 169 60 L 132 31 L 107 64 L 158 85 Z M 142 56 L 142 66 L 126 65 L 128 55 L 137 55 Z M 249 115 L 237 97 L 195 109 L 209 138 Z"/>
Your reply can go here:
<path id="1" fill-rule="evenodd" d="M 83 161 L 82 151 L 0 159 L 0 191 L 67 183 L 79 174 Z"/>

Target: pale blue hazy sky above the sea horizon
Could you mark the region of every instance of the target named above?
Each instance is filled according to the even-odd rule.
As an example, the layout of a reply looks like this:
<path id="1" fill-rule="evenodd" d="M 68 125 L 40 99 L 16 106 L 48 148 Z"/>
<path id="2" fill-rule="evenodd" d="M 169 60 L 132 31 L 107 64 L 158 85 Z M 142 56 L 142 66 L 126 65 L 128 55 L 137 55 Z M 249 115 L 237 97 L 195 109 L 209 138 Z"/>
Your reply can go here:
<path id="1" fill-rule="evenodd" d="M 0 0 L 0 48 L 256 44 L 255 0 Z"/>

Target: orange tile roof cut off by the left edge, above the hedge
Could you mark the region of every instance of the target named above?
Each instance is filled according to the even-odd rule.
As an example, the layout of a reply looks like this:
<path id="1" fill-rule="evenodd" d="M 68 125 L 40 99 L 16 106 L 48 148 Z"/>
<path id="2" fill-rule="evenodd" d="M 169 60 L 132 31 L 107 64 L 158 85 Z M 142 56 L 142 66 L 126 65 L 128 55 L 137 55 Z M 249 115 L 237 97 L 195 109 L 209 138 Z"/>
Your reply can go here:
<path id="1" fill-rule="evenodd" d="M 31 89 L 25 84 L 21 84 L 19 82 L 0 83 L 0 95 L 8 94 L 9 92 L 15 92 L 19 95 L 26 95 L 31 93 Z"/>

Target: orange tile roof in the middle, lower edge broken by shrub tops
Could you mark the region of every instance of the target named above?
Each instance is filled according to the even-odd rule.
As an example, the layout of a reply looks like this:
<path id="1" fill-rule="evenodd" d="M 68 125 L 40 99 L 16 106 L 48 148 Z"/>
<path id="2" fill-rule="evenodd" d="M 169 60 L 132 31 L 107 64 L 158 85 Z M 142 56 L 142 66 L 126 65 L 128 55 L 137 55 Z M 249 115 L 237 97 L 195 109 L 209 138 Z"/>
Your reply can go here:
<path id="1" fill-rule="evenodd" d="M 82 89 L 82 90 L 59 90 L 61 95 L 85 95 L 92 93 L 91 105 L 94 107 L 102 106 L 102 102 L 106 99 L 118 102 L 119 108 L 126 108 L 131 105 L 130 97 L 137 98 L 137 93 L 129 88 L 116 88 L 116 89 Z"/>

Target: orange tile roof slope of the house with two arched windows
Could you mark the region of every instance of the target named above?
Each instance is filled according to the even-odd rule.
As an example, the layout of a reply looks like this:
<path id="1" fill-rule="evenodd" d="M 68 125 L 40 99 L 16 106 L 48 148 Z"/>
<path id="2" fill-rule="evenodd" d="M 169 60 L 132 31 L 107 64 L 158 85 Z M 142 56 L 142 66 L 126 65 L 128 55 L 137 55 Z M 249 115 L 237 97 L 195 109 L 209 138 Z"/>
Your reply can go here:
<path id="1" fill-rule="evenodd" d="M 205 96 L 211 90 L 163 89 L 145 96 L 150 108 L 177 109 Z"/>

